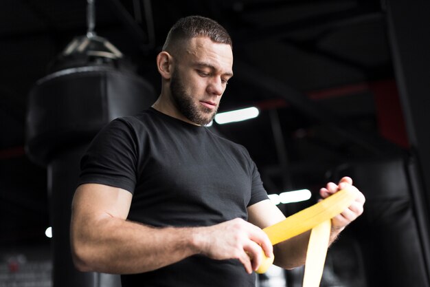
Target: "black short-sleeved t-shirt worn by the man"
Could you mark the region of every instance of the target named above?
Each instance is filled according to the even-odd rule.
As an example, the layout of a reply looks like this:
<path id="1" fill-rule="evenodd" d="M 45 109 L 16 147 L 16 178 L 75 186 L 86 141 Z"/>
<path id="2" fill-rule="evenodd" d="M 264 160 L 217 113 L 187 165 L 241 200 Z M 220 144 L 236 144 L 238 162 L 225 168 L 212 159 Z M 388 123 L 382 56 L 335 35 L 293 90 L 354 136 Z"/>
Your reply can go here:
<path id="1" fill-rule="evenodd" d="M 80 184 L 133 193 L 128 220 L 150 226 L 210 226 L 240 217 L 267 199 L 260 174 L 241 145 L 148 109 L 102 129 L 81 161 Z M 138 275 L 123 286 L 253 286 L 237 260 L 201 255 Z"/>

